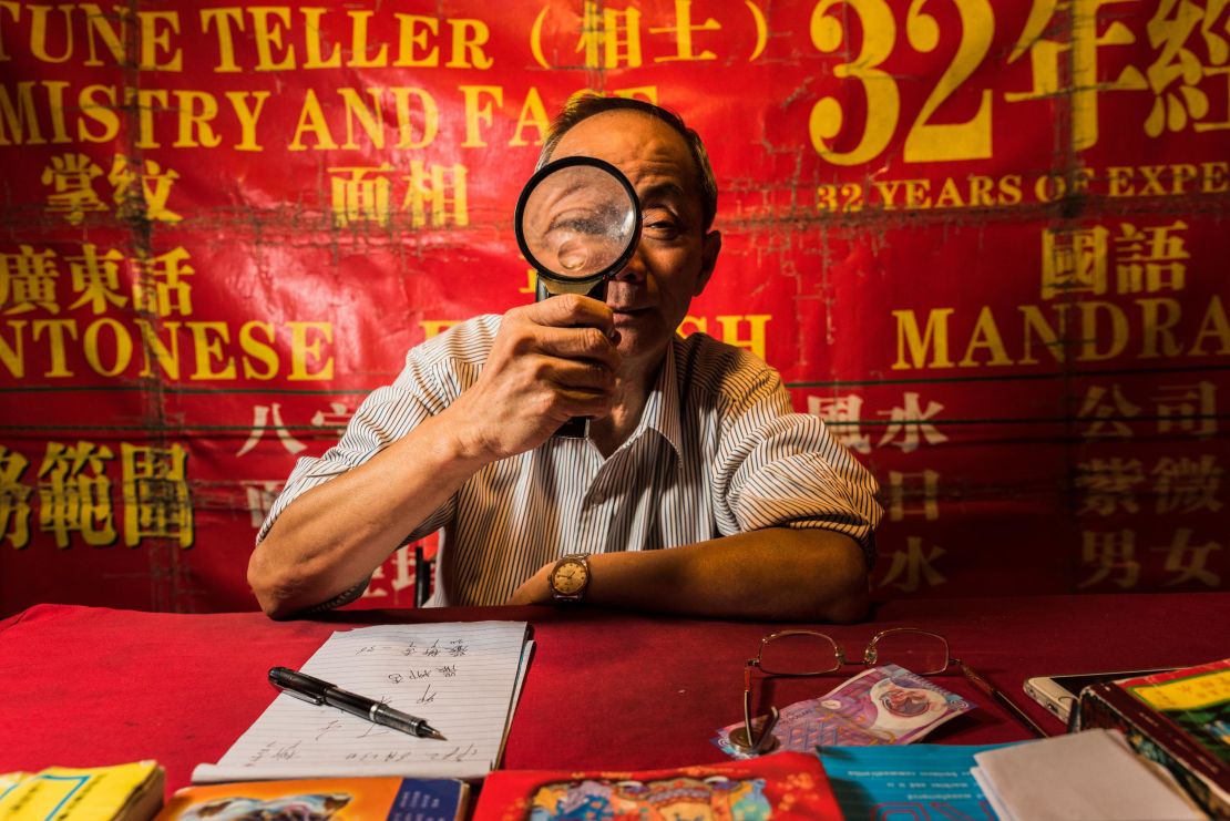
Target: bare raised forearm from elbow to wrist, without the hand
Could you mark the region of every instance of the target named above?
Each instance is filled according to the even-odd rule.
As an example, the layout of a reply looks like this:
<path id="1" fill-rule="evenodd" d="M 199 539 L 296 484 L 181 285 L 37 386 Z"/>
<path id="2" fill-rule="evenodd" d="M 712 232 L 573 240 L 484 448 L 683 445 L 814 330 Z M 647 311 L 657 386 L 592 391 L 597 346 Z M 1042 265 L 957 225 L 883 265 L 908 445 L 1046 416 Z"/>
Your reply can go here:
<path id="1" fill-rule="evenodd" d="M 282 618 L 360 584 L 483 463 L 462 452 L 437 417 L 304 493 L 248 562 L 261 608 Z"/>

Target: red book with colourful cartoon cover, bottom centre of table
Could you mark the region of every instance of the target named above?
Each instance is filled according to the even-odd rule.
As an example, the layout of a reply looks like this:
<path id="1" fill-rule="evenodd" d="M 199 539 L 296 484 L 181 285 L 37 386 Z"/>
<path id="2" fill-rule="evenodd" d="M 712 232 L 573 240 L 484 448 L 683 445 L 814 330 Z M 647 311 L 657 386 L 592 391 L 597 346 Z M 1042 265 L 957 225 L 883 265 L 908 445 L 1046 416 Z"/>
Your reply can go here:
<path id="1" fill-rule="evenodd" d="M 496 771 L 483 782 L 474 821 L 840 817 L 815 756 L 779 752 L 640 772 Z"/>

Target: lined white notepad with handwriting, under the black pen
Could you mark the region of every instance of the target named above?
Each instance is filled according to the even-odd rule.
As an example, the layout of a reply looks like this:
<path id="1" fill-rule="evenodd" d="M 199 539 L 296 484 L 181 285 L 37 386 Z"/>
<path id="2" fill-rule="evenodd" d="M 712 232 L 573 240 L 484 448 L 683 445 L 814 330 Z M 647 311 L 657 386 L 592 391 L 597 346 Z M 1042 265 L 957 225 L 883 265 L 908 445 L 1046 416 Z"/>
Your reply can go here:
<path id="1" fill-rule="evenodd" d="M 525 622 L 336 632 L 303 672 L 427 719 L 448 741 L 419 739 L 282 693 L 218 763 L 197 766 L 192 782 L 482 778 L 503 755 L 533 648 L 526 633 Z M 277 664 L 271 659 L 271 667 Z"/>

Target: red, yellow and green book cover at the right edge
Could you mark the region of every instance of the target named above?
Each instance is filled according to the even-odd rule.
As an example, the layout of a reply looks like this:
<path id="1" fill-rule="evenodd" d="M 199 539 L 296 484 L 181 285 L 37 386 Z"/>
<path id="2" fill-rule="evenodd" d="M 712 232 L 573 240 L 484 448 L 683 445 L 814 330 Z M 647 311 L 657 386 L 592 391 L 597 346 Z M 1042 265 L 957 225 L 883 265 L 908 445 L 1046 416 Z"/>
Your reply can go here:
<path id="1" fill-rule="evenodd" d="M 1118 683 L 1230 766 L 1230 659 Z"/>

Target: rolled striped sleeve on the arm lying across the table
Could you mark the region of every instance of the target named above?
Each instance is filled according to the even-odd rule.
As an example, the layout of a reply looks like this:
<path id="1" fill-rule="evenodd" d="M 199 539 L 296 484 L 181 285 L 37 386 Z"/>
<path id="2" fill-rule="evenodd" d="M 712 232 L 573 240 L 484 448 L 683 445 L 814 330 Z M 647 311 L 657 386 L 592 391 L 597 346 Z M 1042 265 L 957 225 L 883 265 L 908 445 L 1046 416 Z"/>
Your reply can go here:
<path id="1" fill-rule="evenodd" d="M 873 533 L 883 515 L 876 479 L 822 419 L 792 410 L 771 367 L 763 366 L 736 396 L 723 414 L 715 467 L 720 530 L 833 530 L 857 541 L 872 567 Z"/>

